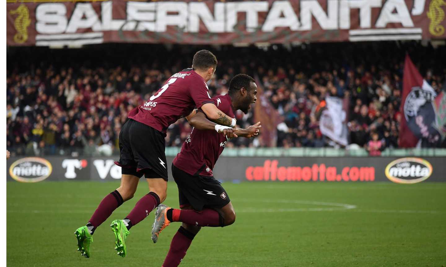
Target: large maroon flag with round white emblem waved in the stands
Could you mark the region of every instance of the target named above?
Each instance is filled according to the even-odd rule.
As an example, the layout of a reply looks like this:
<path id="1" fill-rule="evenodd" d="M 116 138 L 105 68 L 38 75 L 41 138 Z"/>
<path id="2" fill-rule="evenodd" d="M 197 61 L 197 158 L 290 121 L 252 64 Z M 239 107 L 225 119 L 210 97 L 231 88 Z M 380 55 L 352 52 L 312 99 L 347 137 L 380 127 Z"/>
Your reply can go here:
<path id="1" fill-rule="evenodd" d="M 401 99 L 400 147 L 415 147 L 419 139 L 423 146 L 438 142 L 438 131 L 434 129 L 435 110 L 433 101 L 437 93 L 425 81 L 406 55 Z"/>

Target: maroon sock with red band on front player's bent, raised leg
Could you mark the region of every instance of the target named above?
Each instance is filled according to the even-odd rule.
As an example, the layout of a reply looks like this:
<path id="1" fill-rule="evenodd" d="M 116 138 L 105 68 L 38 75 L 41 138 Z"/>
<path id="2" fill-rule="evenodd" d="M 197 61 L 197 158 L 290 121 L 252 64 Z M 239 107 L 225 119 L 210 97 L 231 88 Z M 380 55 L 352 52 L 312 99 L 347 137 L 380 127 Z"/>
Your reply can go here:
<path id="1" fill-rule="evenodd" d="M 196 210 L 172 210 L 172 221 L 183 222 L 196 226 L 219 227 L 223 226 L 220 214 L 211 209 Z"/>

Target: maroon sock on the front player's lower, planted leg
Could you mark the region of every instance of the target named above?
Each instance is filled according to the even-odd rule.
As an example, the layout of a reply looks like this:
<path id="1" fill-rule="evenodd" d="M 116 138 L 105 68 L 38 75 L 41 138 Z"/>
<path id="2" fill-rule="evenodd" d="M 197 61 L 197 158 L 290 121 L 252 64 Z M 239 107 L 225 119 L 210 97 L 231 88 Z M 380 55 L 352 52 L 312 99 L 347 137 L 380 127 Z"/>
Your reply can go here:
<path id="1" fill-rule="evenodd" d="M 186 251 L 194 237 L 195 234 L 180 226 L 180 229 L 173 236 L 172 242 L 170 242 L 169 253 L 167 253 L 162 267 L 177 267 L 186 255 Z"/>

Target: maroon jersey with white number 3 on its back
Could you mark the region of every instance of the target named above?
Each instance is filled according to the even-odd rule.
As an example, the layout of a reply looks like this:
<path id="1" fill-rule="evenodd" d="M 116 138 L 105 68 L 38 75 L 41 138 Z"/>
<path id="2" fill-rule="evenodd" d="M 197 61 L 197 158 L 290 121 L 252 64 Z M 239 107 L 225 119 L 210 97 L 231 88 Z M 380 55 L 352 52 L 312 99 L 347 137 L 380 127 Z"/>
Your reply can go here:
<path id="1" fill-rule="evenodd" d="M 193 69 L 183 69 L 173 74 L 149 101 L 132 109 L 128 117 L 166 134 L 169 125 L 206 103 L 213 103 L 206 81 Z"/>

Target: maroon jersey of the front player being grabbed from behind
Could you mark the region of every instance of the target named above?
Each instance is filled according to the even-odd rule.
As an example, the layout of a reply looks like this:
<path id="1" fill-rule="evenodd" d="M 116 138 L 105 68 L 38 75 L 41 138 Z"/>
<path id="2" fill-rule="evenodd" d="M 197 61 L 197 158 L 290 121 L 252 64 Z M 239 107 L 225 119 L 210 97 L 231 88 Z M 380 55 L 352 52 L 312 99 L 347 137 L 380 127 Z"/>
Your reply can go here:
<path id="1" fill-rule="evenodd" d="M 214 104 L 229 117 L 235 117 L 231 97 L 213 97 Z M 181 147 L 181 152 L 173 159 L 173 165 L 190 175 L 213 176 L 215 162 L 226 146 L 227 138 L 215 130 L 192 129 L 192 133 Z"/>

